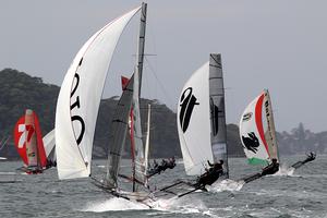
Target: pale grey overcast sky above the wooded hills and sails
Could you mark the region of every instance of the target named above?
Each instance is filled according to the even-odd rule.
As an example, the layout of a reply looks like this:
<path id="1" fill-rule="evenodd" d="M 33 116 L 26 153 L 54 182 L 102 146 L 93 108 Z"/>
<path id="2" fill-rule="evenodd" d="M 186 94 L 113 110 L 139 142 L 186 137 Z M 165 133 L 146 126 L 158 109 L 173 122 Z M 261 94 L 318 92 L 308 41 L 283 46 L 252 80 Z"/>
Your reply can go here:
<path id="1" fill-rule="evenodd" d="M 186 80 L 210 52 L 222 56 L 227 123 L 268 88 L 277 131 L 303 122 L 327 130 L 327 2 L 307 0 L 148 0 L 142 96 L 173 111 Z M 0 2 L 0 69 L 61 85 L 83 44 L 136 0 Z M 120 95 L 135 62 L 138 16 L 117 47 L 104 97 Z"/>

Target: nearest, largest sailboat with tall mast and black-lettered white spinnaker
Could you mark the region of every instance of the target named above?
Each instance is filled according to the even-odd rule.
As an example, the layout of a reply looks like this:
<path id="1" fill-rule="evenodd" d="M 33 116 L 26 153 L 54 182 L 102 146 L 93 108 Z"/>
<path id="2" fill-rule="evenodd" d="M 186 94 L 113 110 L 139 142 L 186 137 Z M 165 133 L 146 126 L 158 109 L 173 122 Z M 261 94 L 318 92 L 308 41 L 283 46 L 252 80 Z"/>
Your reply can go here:
<path id="1" fill-rule="evenodd" d="M 141 26 L 134 74 L 123 90 L 112 120 L 107 173 L 94 183 L 104 191 L 126 199 L 143 202 L 149 192 L 138 192 L 136 183 L 146 181 L 144 148 L 140 122 L 140 92 L 143 71 L 146 3 L 107 24 L 77 52 L 62 83 L 56 111 L 56 155 L 60 180 L 90 177 L 92 148 L 101 93 L 114 48 L 130 20 L 141 11 Z M 133 108 L 135 171 L 133 189 L 119 186 L 122 147 L 125 143 L 130 111 Z"/>

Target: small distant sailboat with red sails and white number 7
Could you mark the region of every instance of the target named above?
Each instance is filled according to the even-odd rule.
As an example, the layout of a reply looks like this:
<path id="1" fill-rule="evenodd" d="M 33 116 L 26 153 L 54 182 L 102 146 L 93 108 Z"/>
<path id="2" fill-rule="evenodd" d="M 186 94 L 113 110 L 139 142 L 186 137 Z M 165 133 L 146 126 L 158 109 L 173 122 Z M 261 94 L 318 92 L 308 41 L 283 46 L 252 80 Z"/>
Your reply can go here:
<path id="1" fill-rule="evenodd" d="M 38 118 L 33 110 L 27 109 L 15 124 L 14 144 L 24 162 L 21 170 L 36 174 L 49 168 Z"/>

